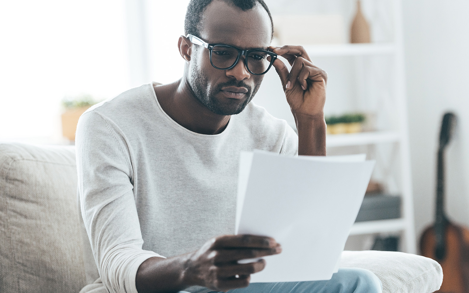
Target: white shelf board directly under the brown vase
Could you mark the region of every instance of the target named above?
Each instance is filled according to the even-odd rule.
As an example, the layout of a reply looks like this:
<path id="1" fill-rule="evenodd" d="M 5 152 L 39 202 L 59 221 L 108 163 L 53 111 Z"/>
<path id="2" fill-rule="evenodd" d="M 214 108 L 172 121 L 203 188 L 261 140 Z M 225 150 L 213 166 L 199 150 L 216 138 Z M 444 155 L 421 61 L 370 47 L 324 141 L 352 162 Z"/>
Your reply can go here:
<path id="1" fill-rule="evenodd" d="M 396 51 L 393 43 L 305 45 L 304 48 L 310 57 L 382 55 Z"/>

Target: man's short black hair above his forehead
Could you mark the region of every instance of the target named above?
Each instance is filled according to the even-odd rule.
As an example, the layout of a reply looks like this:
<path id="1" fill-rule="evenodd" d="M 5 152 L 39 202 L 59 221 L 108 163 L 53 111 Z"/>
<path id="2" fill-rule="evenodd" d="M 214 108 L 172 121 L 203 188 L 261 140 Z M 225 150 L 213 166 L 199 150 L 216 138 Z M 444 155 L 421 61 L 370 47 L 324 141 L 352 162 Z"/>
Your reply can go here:
<path id="1" fill-rule="evenodd" d="M 204 13 L 205 8 L 212 3 L 213 0 L 190 0 L 189 5 L 187 6 L 186 18 L 184 20 L 184 34 L 188 34 L 199 37 L 199 24 L 202 19 L 202 14 Z M 262 5 L 262 7 L 267 11 L 267 14 L 270 18 L 270 24 L 272 26 L 272 36 L 273 38 L 273 21 L 272 15 L 270 14 L 269 8 L 265 4 L 264 0 L 223 0 L 227 3 L 232 3 L 236 7 L 246 11 L 254 8 L 257 3 Z"/>

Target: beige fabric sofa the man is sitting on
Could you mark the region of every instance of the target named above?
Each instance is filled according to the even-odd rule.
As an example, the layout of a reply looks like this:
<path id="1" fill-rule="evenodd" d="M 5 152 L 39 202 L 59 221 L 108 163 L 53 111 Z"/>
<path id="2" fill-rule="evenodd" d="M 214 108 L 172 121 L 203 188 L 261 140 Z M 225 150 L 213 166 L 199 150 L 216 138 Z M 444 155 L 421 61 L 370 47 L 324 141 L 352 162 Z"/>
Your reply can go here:
<path id="1" fill-rule="evenodd" d="M 78 293 L 93 283 L 76 181 L 74 146 L 0 143 L 1 293 Z M 439 263 L 401 252 L 344 251 L 340 267 L 373 271 L 384 293 L 431 293 L 443 280 Z"/>

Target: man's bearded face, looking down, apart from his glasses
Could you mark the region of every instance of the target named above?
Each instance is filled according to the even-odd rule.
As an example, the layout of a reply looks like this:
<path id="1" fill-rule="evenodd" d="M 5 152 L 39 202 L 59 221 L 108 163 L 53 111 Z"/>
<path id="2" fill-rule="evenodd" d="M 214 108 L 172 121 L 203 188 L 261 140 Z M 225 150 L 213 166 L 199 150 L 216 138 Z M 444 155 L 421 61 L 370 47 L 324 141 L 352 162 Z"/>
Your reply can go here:
<path id="1" fill-rule="evenodd" d="M 214 0 L 204 11 L 200 36 L 207 43 L 226 44 L 240 49 L 270 45 L 272 28 L 265 9 L 257 5 L 242 11 Z M 192 46 L 188 81 L 196 98 L 213 113 L 241 113 L 259 89 L 264 75 L 252 75 L 244 66 L 244 56 L 234 68 L 220 70 L 210 63 L 209 50 Z"/>

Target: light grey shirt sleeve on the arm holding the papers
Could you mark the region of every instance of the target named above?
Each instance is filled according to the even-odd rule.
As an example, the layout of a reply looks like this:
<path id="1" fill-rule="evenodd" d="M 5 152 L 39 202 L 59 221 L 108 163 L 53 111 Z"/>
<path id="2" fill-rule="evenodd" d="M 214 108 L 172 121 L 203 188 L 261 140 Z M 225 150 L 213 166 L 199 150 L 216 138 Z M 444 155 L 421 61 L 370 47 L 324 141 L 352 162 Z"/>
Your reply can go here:
<path id="1" fill-rule="evenodd" d="M 124 135 L 94 110 L 76 130 L 76 165 L 83 222 L 99 275 L 111 293 L 137 293 L 135 278 L 146 259 Z"/>

